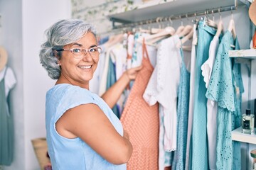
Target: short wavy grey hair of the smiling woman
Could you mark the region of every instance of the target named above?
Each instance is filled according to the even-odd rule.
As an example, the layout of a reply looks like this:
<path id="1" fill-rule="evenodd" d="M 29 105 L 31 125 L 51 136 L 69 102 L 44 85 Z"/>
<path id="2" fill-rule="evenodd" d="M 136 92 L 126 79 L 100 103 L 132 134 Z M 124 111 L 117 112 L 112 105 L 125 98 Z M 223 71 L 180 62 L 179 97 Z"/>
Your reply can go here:
<path id="1" fill-rule="evenodd" d="M 93 33 L 96 37 L 95 28 L 79 19 L 61 20 L 46 30 L 46 42 L 41 45 L 39 57 L 42 66 L 51 79 L 60 77 L 58 56 L 60 57 L 62 52 L 55 54 L 55 50 L 60 50 L 65 45 L 77 42 L 87 32 Z"/>

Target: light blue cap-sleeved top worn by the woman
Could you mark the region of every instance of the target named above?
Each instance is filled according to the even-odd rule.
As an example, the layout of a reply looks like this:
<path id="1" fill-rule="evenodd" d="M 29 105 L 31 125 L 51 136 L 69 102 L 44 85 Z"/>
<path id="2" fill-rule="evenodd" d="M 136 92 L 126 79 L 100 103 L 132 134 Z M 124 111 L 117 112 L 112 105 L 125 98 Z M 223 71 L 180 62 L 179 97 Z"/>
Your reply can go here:
<path id="1" fill-rule="evenodd" d="M 46 140 L 53 169 L 125 170 L 126 164 L 114 165 L 107 162 L 79 137 L 68 139 L 56 131 L 55 123 L 65 111 L 86 103 L 98 105 L 117 132 L 123 135 L 122 124 L 102 98 L 79 86 L 53 86 L 46 94 Z"/>

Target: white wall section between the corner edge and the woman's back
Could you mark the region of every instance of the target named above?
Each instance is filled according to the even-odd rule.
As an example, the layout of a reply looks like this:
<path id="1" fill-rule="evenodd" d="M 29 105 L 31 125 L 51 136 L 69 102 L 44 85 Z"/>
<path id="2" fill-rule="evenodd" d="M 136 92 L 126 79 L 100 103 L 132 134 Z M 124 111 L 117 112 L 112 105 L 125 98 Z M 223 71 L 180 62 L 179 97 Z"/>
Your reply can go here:
<path id="1" fill-rule="evenodd" d="M 44 31 L 60 19 L 71 18 L 71 4 L 70 0 L 23 0 L 22 11 L 25 169 L 29 170 L 38 167 L 31 139 L 46 136 L 45 96 L 55 84 L 41 66 L 38 52 Z"/>

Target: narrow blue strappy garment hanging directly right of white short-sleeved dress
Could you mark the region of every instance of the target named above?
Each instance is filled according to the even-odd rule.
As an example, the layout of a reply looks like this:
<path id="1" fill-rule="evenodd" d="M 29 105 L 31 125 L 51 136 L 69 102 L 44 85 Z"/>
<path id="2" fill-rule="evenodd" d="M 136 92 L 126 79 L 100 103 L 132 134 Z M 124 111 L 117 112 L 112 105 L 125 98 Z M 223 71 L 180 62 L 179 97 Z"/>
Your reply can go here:
<path id="1" fill-rule="evenodd" d="M 188 132 L 188 105 L 190 73 L 186 69 L 183 51 L 181 49 L 182 65 L 181 78 L 178 86 L 177 108 L 177 149 L 174 152 L 174 163 L 171 169 L 183 170 L 186 164 L 186 142 Z"/>

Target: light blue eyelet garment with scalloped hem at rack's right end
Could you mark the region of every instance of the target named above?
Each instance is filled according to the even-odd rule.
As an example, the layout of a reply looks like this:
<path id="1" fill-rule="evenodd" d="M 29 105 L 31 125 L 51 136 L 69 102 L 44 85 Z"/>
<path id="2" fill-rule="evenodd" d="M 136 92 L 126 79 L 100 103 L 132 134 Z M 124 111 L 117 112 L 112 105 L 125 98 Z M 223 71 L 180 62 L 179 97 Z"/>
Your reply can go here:
<path id="1" fill-rule="evenodd" d="M 240 64 L 228 56 L 230 45 L 239 49 L 229 31 L 225 32 L 218 47 L 206 97 L 218 102 L 217 111 L 217 169 L 241 169 L 240 143 L 232 142 L 231 131 L 240 126 L 241 94 L 244 91 Z M 236 84 L 236 85 L 235 85 Z M 235 86 L 240 89 L 236 94 Z"/>

